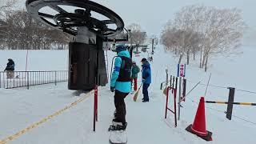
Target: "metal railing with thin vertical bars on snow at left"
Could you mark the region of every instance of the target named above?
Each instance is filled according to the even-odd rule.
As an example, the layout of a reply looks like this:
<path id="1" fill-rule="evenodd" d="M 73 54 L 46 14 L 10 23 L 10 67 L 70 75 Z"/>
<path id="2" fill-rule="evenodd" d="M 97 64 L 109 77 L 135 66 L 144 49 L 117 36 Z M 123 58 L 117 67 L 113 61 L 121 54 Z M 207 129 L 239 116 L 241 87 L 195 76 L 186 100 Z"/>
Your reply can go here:
<path id="1" fill-rule="evenodd" d="M 18 87 L 38 86 L 68 80 L 67 70 L 54 71 L 14 71 L 7 78 L 6 71 L 0 71 L 0 88 L 12 89 Z"/>

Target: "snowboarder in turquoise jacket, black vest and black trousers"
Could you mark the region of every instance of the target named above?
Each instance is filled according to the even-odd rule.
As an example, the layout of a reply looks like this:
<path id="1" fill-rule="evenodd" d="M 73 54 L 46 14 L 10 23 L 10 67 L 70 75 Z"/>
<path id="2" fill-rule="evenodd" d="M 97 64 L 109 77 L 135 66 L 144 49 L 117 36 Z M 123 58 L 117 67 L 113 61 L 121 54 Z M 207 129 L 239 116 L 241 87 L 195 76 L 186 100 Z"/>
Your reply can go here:
<path id="1" fill-rule="evenodd" d="M 126 103 L 124 98 L 130 93 L 130 76 L 132 61 L 126 46 L 116 46 L 118 57 L 114 61 L 114 71 L 112 73 L 110 90 L 114 93 L 115 118 L 113 126 L 109 130 L 126 130 Z"/>

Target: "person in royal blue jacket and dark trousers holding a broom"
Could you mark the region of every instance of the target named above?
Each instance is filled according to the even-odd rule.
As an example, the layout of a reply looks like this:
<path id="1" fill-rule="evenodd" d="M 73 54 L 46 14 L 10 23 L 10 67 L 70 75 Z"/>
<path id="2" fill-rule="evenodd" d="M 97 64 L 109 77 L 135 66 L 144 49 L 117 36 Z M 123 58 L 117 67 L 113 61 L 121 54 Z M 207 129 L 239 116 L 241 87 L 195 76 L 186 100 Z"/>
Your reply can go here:
<path id="1" fill-rule="evenodd" d="M 142 102 L 149 102 L 149 93 L 148 88 L 151 83 L 151 69 L 150 69 L 150 62 L 146 60 L 146 58 L 142 58 Z"/>

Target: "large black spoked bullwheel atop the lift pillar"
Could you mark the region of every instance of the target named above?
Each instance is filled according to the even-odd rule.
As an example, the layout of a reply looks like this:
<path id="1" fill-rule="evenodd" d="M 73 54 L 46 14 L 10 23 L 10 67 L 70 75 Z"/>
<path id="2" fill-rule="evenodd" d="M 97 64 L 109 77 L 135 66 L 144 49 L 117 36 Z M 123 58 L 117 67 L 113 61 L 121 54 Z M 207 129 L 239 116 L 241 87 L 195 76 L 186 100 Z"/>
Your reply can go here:
<path id="1" fill-rule="evenodd" d="M 33 18 L 74 36 L 82 26 L 100 37 L 114 36 L 124 28 L 118 14 L 88 0 L 27 0 L 26 8 Z M 92 13 L 106 19 L 94 17 Z"/>

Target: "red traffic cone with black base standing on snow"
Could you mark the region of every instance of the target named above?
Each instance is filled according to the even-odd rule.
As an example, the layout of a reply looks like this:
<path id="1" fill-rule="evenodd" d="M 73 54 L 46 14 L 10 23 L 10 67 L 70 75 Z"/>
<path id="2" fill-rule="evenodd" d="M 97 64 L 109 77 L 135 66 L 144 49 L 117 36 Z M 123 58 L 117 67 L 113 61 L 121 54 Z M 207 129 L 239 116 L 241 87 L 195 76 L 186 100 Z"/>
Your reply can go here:
<path id="1" fill-rule="evenodd" d="M 192 134 L 197 134 L 198 137 L 206 141 L 212 141 L 212 133 L 206 130 L 205 98 L 200 98 L 200 103 L 198 105 L 197 114 L 194 118 L 194 123 L 193 125 L 187 126 L 186 130 Z"/>

